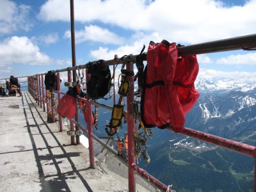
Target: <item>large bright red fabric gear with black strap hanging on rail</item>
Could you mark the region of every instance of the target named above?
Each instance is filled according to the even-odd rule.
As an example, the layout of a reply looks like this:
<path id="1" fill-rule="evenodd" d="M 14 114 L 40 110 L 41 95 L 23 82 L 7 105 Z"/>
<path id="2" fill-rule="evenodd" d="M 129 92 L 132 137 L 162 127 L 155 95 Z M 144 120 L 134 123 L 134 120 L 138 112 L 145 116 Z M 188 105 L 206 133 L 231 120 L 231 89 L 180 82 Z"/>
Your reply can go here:
<path id="1" fill-rule="evenodd" d="M 178 60 L 175 43 L 150 42 L 141 97 L 141 120 L 145 127 L 182 131 L 185 115 L 193 108 L 199 93 L 194 82 L 198 74 L 196 55 Z"/>

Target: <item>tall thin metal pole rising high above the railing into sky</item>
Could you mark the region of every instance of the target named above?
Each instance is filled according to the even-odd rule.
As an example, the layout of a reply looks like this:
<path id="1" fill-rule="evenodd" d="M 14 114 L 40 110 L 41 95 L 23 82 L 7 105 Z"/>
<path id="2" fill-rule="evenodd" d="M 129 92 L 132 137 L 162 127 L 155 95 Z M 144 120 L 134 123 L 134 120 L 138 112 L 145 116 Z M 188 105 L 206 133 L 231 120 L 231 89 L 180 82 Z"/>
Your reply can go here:
<path id="1" fill-rule="evenodd" d="M 72 67 L 76 67 L 76 41 L 75 41 L 75 19 L 74 19 L 74 0 L 70 0 L 70 28 L 71 28 L 71 45 L 72 45 Z M 73 70 L 73 81 L 76 82 L 76 70 Z M 77 105 L 77 99 L 76 99 Z M 75 115 L 76 122 L 79 122 L 78 113 L 76 110 Z M 79 127 L 76 125 L 76 131 L 79 131 Z M 80 144 L 80 137 L 76 136 L 76 144 Z"/>

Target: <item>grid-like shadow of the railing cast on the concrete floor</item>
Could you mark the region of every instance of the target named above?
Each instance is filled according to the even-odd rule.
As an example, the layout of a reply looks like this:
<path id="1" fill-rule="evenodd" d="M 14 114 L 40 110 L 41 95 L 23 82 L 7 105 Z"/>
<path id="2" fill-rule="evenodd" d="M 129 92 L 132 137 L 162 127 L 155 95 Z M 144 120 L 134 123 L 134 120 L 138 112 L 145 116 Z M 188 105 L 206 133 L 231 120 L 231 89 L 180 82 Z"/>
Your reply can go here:
<path id="1" fill-rule="evenodd" d="M 26 102 L 26 104 L 24 102 Z M 41 186 L 42 186 L 42 190 L 41 191 L 70 191 L 70 189 L 68 188 L 66 180 L 67 179 L 76 179 L 76 177 L 79 177 L 81 182 L 83 182 L 84 187 L 87 189 L 87 191 L 92 191 L 92 189 L 90 188 L 90 186 L 88 185 L 86 180 L 79 173 L 79 171 L 81 171 L 81 170 L 77 170 L 75 164 L 72 162 L 72 159 L 70 158 L 70 157 L 79 156 L 79 152 L 71 152 L 71 153 L 67 153 L 66 152 L 65 148 L 63 147 L 63 145 L 61 145 L 60 141 L 58 141 L 56 136 L 53 134 L 53 132 L 51 131 L 51 129 L 47 125 L 47 122 L 45 122 L 45 120 L 40 115 L 38 109 L 35 108 L 35 106 L 32 106 L 31 103 L 33 104 L 33 101 L 30 99 L 28 93 L 22 94 L 22 105 L 23 106 L 29 106 L 29 108 L 27 108 L 27 109 L 29 109 L 29 111 L 31 113 L 31 116 L 33 118 L 33 121 L 35 122 L 35 124 L 33 124 L 33 125 L 29 124 L 28 114 L 26 112 L 26 109 L 23 108 L 24 116 L 26 118 L 26 127 L 28 128 L 29 138 L 30 138 L 32 146 L 33 146 L 33 151 L 34 151 L 35 158 L 36 158 L 36 165 L 38 167 L 38 173 L 39 173 L 39 177 L 40 177 L 39 179 L 40 179 Z M 38 115 L 41 118 L 43 124 L 38 124 L 36 122 L 36 118 L 35 118 L 35 115 L 33 114 L 33 111 L 31 109 L 31 107 L 34 107 L 36 109 L 36 113 L 38 113 Z M 57 147 L 60 147 L 60 149 L 62 150 L 63 154 L 61 154 L 61 155 L 54 155 L 54 154 L 52 154 L 52 150 L 51 150 L 52 147 L 47 142 L 47 140 L 46 140 L 46 138 L 44 136 L 44 133 L 40 129 L 40 127 L 41 127 L 40 125 L 41 126 L 45 125 L 45 127 L 47 127 L 47 130 L 49 131 L 48 134 L 52 135 L 52 137 L 54 138 L 54 140 L 58 144 Z M 41 150 L 41 148 L 36 148 L 36 141 L 33 138 L 33 134 L 31 134 L 31 127 L 37 127 L 39 134 L 42 136 L 42 140 L 44 140 L 45 146 L 46 146 L 46 148 L 47 148 L 47 150 L 49 152 L 49 154 L 47 154 L 47 156 L 39 156 L 38 155 L 38 150 Z M 67 146 L 67 145 L 65 145 L 65 146 Z M 68 162 L 70 163 L 70 167 L 72 168 L 71 172 L 61 173 L 60 166 L 58 166 L 58 164 L 60 164 L 61 161 L 57 161 L 57 159 L 64 158 L 64 157 L 67 158 Z M 55 168 L 57 170 L 57 174 L 56 175 L 51 175 L 50 177 L 48 177 L 48 176 L 45 177 L 44 170 L 42 168 L 42 163 L 40 162 L 41 160 L 52 161 L 51 164 L 55 166 Z M 72 176 L 72 175 L 74 175 L 74 176 Z"/>

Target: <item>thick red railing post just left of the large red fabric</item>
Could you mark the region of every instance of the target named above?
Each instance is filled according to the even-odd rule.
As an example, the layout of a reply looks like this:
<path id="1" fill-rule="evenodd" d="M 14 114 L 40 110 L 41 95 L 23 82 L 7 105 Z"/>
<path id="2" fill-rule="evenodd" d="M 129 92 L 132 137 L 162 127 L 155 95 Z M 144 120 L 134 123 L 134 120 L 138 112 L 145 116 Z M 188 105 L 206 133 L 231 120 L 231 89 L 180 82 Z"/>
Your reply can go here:
<path id="1" fill-rule="evenodd" d="M 133 63 L 127 63 L 126 68 L 129 72 L 133 72 Z M 128 126 L 128 182 L 129 182 L 129 192 L 136 191 L 136 180 L 134 177 L 134 169 L 132 164 L 135 164 L 135 157 L 132 154 L 134 148 L 133 143 L 133 132 L 134 132 L 134 115 L 132 112 L 132 104 L 134 102 L 134 77 L 128 76 L 129 80 L 129 92 L 127 95 L 127 126 Z"/>

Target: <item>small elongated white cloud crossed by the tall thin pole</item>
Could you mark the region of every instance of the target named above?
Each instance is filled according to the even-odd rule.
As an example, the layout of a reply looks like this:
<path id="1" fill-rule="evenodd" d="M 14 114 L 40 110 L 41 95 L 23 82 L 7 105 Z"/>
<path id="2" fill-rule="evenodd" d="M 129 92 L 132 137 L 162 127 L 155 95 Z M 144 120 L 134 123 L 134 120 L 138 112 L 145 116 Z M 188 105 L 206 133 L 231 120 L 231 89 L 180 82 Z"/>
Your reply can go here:
<path id="1" fill-rule="evenodd" d="M 70 31 L 66 31 L 64 37 L 70 38 Z M 83 30 L 76 31 L 76 43 L 85 41 L 102 42 L 104 44 L 121 44 L 124 40 L 120 36 L 112 33 L 108 29 L 99 26 L 85 26 Z"/>

